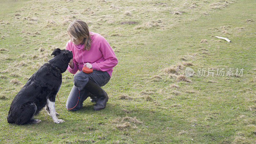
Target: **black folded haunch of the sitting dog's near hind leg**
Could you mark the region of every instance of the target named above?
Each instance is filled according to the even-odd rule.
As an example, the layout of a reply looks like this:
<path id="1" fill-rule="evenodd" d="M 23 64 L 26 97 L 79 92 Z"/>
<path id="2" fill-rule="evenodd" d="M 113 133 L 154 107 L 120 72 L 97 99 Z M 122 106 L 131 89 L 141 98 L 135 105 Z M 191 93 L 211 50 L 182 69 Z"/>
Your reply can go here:
<path id="1" fill-rule="evenodd" d="M 36 113 L 37 107 L 34 102 L 27 102 L 20 106 L 20 116 L 16 119 L 17 125 L 29 123 Z"/>

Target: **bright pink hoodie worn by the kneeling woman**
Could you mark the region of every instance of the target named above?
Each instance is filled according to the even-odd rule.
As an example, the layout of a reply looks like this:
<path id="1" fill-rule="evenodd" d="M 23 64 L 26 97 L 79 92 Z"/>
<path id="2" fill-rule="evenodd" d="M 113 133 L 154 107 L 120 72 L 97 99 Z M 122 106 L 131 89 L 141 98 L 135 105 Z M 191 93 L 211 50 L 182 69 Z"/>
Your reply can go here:
<path id="1" fill-rule="evenodd" d="M 68 41 L 66 50 L 73 52 L 74 62 L 73 69 L 68 65 L 68 72 L 76 74 L 77 70 L 82 71 L 85 63 L 90 63 L 93 70 L 107 71 L 111 77 L 113 67 L 118 63 L 116 55 L 105 38 L 98 33 L 90 32 L 90 34 L 92 34 L 92 43 L 89 51 L 83 50 L 85 44 L 75 45 L 71 40 Z"/>

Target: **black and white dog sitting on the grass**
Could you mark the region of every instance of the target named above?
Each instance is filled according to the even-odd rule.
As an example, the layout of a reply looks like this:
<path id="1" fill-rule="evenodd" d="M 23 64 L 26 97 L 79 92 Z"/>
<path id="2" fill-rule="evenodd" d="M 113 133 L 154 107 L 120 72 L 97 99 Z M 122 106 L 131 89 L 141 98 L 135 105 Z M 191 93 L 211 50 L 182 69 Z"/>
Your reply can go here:
<path id="1" fill-rule="evenodd" d="M 12 100 L 7 116 L 8 123 L 36 124 L 41 120 L 33 119 L 45 106 L 49 115 L 55 123 L 62 123 L 55 112 L 55 96 L 58 93 L 61 82 L 61 73 L 68 68 L 70 59 L 73 58 L 72 51 L 55 49 L 54 57 L 41 66 L 29 79 L 25 86 Z"/>

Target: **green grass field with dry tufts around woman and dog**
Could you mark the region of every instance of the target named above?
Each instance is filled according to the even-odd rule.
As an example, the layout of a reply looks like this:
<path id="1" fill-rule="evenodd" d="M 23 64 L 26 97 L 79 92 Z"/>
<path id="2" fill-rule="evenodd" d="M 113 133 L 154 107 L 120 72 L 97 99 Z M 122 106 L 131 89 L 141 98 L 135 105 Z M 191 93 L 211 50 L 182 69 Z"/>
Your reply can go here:
<path id="1" fill-rule="evenodd" d="M 0 0 L 0 143 L 256 143 L 254 0 Z M 114 49 L 107 107 L 7 123 L 28 78 L 64 49 L 74 19 Z M 215 36 L 228 37 L 231 43 Z M 186 67 L 195 71 L 185 76 Z M 65 104 L 73 74 L 62 74 Z"/>

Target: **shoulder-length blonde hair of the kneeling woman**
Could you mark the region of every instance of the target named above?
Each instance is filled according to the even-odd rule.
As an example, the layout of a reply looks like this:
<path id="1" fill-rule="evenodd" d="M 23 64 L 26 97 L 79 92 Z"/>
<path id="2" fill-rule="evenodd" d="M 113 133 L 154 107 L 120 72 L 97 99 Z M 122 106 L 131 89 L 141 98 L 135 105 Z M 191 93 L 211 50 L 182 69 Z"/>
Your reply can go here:
<path id="1" fill-rule="evenodd" d="M 76 19 L 68 25 L 67 29 L 69 37 L 72 36 L 76 41 L 82 41 L 84 50 L 89 51 L 92 43 L 91 34 L 88 25 L 81 19 Z"/>

